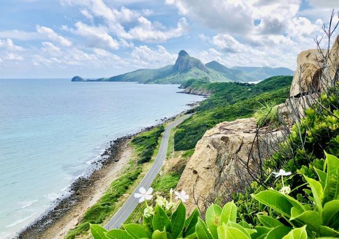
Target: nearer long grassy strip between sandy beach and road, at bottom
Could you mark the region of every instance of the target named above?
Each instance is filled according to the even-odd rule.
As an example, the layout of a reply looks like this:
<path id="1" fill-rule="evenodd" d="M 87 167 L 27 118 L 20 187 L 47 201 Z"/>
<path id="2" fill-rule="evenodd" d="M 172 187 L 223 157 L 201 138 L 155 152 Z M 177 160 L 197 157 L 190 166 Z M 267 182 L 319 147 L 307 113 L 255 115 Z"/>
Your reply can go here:
<path id="1" fill-rule="evenodd" d="M 140 168 L 133 168 L 130 166 L 130 171 L 118 179 L 114 180 L 107 189 L 105 195 L 98 203 L 93 205 L 84 215 L 82 222 L 74 229 L 70 230 L 66 239 L 76 238 L 77 235 L 87 234 L 89 224 L 101 224 L 111 215 L 115 209 L 115 203 L 126 192 L 130 185 L 137 180 L 139 174 L 142 172 Z"/>

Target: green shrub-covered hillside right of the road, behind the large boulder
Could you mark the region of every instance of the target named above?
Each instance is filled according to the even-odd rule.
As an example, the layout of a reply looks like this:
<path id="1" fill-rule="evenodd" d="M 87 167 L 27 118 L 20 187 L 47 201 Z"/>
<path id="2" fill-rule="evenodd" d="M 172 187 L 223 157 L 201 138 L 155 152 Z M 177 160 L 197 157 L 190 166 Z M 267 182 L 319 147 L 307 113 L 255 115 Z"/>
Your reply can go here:
<path id="1" fill-rule="evenodd" d="M 262 105 L 284 103 L 292 82 L 290 76 L 271 77 L 256 85 L 248 83 L 195 83 L 215 93 L 200 106 L 192 109 L 196 114 L 177 126 L 174 136 L 175 150 L 193 149 L 202 135 L 223 121 L 252 117 Z M 274 100 L 272 100 L 274 99 Z"/>

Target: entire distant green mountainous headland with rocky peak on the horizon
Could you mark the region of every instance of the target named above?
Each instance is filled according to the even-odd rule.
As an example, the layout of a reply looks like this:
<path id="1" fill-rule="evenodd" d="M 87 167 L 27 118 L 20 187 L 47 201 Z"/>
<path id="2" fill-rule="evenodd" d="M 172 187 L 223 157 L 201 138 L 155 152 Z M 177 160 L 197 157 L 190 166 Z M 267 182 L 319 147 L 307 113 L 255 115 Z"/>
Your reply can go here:
<path id="1" fill-rule="evenodd" d="M 122 75 L 99 78 L 96 80 L 75 76 L 72 81 L 128 81 L 144 84 L 182 84 L 189 79 L 205 82 L 249 82 L 265 80 L 272 76 L 293 76 L 294 71 L 289 68 L 279 67 L 241 67 L 228 68 L 216 61 L 202 64 L 191 57 L 186 51 L 181 50 L 174 65 L 167 65 L 159 69 L 139 69 Z"/>

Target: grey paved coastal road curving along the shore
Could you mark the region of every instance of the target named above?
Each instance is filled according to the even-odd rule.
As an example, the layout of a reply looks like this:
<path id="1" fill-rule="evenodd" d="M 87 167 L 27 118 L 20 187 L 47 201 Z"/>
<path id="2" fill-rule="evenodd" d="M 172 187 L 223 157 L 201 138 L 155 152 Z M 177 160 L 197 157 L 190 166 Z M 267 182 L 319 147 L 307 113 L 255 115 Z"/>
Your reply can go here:
<path id="1" fill-rule="evenodd" d="M 172 123 L 168 124 L 166 127 L 162 141 L 160 144 L 160 149 L 158 152 L 157 157 L 149 169 L 145 177 L 142 179 L 136 190 L 130 195 L 127 199 L 125 204 L 119 209 L 119 211 L 109 220 L 109 222 L 104 226 L 106 230 L 117 229 L 119 228 L 127 219 L 127 217 L 133 212 L 133 210 L 137 207 L 139 198 L 134 197 L 134 193 L 139 193 L 139 188 L 144 187 L 146 190 L 149 188 L 150 184 L 154 180 L 155 176 L 157 176 L 158 172 L 160 171 L 164 159 L 166 157 L 167 152 L 167 145 L 168 145 L 168 138 L 170 137 L 170 131 L 173 127 L 180 124 L 184 119 L 190 117 L 192 114 L 185 115 L 180 119 L 173 121 Z"/>

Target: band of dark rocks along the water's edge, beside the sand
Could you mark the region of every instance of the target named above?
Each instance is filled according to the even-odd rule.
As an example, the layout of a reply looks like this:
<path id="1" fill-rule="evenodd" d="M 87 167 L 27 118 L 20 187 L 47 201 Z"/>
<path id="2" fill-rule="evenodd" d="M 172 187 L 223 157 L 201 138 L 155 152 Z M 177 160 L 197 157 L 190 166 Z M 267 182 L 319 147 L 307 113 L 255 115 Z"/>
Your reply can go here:
<path id="1" fill-rule="evenodd" d="M 147 130 L 147 128 L 146 128 Z M 76 205 L 90 195 L 91 186 L 97 180 L 100 180 L 101 171 L 105 170 L 111 164 L 119 161 L 118 156 L 124 150 L 124 146 L 134 135 L 126 135 L 110 142 L 110 146 L 101 155 L 101 159 L 92 164 L 102 164 L 102 167 L 94 171 L 89 177 L 79 177 L 70 186 L 70 195 L 54 202 L 55 207 L 45 212 L 41 217 L 35 220 L 32 224 L 24 228 L 15 236 L 15 239 L 32 239 L 43 238 L 42 233 L 54 223 L 58 222 L 66 213 L 70 212 Z"/>

